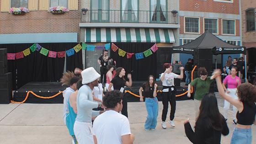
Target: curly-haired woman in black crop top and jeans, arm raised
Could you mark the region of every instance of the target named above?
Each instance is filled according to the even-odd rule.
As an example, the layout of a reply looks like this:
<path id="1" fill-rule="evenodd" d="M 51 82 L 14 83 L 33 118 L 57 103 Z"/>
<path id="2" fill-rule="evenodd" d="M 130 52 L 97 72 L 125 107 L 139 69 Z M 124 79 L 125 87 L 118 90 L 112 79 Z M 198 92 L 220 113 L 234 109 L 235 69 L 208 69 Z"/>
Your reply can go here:
<path id="1" fill-rule="evenodd" d="M 233 104 L 238 112 L 236 113 L 237 124 L 235 126 L 230 144 L 251 144 L 251 125 L 256 124 L 256 87 L 250 83 L 243 83 L 237 87 L 238 99 L 225 93 L 220 78 L 220 70 L 213 72 L 220 96 Z"/>

